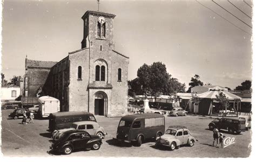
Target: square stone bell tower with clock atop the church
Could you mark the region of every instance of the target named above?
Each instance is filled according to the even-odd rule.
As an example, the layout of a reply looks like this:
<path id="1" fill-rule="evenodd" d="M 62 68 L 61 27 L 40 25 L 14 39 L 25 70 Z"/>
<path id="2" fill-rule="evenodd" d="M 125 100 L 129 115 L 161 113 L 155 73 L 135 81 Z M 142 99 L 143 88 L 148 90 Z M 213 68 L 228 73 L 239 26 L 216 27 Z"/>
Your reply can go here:
<path id="1" fill-rule="evenodd" d="M 92 48 L 95 44 L 102 44 L 113 48 L 113 19 L 116 15 L 100 11 L 86 11 L 84 21 L 84 35 L 81 42 L 83 48 Z"/>

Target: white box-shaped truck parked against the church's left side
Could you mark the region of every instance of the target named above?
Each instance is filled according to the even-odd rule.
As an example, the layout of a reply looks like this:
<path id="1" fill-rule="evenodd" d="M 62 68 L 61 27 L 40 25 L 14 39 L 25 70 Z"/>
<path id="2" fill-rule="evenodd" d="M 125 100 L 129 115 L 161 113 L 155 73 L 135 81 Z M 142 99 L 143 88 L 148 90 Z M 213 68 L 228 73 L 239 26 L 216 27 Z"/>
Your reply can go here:
<path id="1" fill-rule="evenodd" d="M 42 96 L 38 98 L 39 117 L 49 117 L 50 113 L 59 112 L 59 100 L 50 96 Z"/>

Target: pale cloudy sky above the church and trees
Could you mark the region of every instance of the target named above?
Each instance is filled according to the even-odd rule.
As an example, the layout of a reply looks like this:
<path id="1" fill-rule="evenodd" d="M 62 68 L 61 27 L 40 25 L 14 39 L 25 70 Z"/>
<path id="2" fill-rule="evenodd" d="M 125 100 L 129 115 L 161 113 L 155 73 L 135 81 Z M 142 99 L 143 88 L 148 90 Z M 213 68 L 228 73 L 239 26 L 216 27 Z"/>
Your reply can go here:
<path id="1" fill-rule="evenodd" d="M 187 88 L 195 74 L 231 89 L 252 80 L 252 3 L 230 0 L 237 9 L 228 1 L 214 2 L 100 1 L 99 11 L 117 15 L 114 41 L 116 50 L 130 57 L 128 79 L 136 78 L 144 63 L 162 62 Z M 8 80 L 24 75 L 26 56 L 58 62 L 80 49 L 81 17 L 98 10 L 96 0 L 2 5 L 2 72 Z"/>

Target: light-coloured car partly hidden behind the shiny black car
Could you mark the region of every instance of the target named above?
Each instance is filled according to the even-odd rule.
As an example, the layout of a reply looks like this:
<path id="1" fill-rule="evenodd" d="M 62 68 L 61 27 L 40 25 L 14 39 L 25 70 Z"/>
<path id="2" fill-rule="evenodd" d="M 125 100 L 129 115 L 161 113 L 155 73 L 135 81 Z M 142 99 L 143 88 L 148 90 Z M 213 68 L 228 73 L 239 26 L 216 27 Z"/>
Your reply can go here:
<path id="1" fill-rule="evenodd" d="M 99 126 L 96 122 L 91 121 L 82 121 L 73 123 L 69 129 L 56 130 L 52 132 L 52 139 L 57 140 L 62 133 L 70 130 L 84 130 L 88 132 L 90 135 L 96 135 L 99 138 L 105 138 L 107 134 L 103 127 Z"/>

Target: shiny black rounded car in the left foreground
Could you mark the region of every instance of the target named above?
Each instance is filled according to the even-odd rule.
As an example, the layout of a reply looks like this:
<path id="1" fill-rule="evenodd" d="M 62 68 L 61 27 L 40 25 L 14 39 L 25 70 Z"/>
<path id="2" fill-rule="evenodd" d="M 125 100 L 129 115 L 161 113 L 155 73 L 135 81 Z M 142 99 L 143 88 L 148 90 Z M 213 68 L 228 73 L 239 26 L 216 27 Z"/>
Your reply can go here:
<path id="1" fill-rule="evenodd" d="M 102 139 L 98 136 L 91 136 L 84 130 L 71 130 L 64 132 L 62 136 L 50 146 L 50 149 L 53 152 L 70 154 L 78 149 L 99 150 L 101 144 Z"/>

